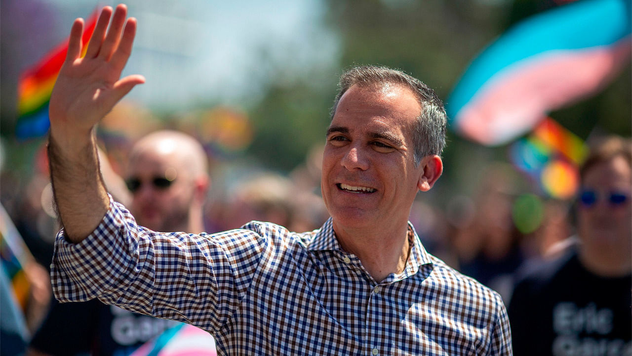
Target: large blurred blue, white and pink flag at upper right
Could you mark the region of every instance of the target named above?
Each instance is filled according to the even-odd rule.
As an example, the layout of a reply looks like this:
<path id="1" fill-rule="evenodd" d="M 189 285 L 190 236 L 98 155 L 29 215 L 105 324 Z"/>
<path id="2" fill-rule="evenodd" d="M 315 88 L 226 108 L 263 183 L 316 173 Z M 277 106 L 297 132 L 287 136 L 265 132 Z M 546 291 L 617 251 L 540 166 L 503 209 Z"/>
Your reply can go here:
<path id="1" fill-rule="evenodd" d="M 598 92 L 629 65 L 631 8 L 631 0 L 579 0 L 507 30 L 447 99 L 452 127 L 481 144 L 504 144 Z"/>

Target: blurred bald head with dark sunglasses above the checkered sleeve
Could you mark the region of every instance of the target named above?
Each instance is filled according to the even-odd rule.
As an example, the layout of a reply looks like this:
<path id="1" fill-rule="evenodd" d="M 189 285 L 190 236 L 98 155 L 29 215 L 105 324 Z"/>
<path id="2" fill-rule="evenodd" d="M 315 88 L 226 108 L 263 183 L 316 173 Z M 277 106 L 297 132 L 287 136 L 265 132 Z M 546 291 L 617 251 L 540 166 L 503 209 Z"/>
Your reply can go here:
<path id="1" fill-rule="evenodd" d="M 155 231 L 204 231 L 207 169 L 204 149 L 193 137 L 163 130 L 140 139 L 125 180 L 137 223 Z"/>

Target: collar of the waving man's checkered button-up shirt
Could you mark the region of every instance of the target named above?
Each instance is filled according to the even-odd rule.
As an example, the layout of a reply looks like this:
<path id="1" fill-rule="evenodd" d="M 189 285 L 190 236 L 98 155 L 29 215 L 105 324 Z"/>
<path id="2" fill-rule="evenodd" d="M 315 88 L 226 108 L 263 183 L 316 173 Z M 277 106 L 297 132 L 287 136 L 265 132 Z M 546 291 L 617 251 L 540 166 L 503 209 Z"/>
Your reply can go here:
<path id="1" fill-rule="evenodd" d="M 423 247 L 422 241 L 410 221 L 408 222 L 408 232 L 409 234 L 412 234 L 413 245 L 410 249 L 410 256 L 408 257 L 408 262 L 406 262 L 406 270 L 404 273 L 408 272 L 407 274 L 414 274 L 421 265 L 432 264 L 432 258 L 430 257 L 430 253 L 428 253 L 428 251 L 426 251 Z M 323 224 L 322 227 L 320 227 L 320 230 L 312 239 L 308 249 L 310 251 L 342 250 L 340 244 L 338 243 L 338 239 L 336 239 L 334 224 L 331 217 L 325 221 L 325 224 Z"/>

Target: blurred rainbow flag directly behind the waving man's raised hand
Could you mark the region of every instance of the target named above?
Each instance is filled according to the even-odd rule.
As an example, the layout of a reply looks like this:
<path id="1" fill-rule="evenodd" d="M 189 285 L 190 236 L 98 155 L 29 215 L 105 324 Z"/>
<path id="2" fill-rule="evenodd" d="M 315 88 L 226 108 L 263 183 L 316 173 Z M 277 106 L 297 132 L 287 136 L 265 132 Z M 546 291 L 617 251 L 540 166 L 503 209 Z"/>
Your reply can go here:
<path id="1" fill-rule="evenodd" d="M 84 27 L 83 54 L 96 25 L 97 11 L 90 15 Z M 15 128 L 18 139 L 40 137 L 48 132 L 48 103 L 67 51 L 68 39 L 21 73 L 18 81 L 18 122 Z"/>

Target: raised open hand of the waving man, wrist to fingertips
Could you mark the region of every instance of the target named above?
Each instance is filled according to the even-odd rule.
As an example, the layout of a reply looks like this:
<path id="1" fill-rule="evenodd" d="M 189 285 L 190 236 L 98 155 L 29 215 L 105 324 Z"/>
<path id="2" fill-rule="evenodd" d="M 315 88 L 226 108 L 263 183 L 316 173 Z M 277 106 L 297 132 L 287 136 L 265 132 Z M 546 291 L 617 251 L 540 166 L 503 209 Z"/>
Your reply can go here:
<path id="1" fill-rule="evenodd" d="M 126 14 L 124 4 L 116 6 L 114 16 L 111 7 L 103 8 L 83 58 L 80 57 L 83 20 L 78 18 L 73 23 L 66 61 L 49 103 L 51 136 L 58 143 L 85 141 L 92 127 L 125 94 L 145 82 L 142 75 L 120 79 L 136 34 L 136 19 L 126 20 Z M 107 30 L 111 17 L 112 24 Z"/>

